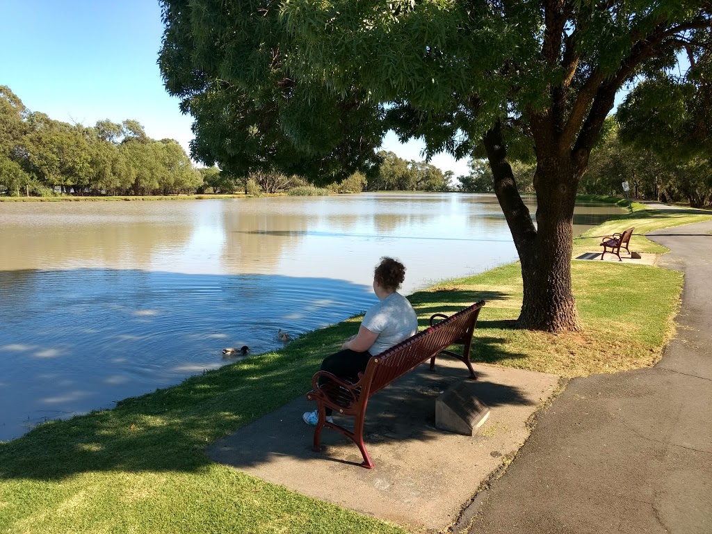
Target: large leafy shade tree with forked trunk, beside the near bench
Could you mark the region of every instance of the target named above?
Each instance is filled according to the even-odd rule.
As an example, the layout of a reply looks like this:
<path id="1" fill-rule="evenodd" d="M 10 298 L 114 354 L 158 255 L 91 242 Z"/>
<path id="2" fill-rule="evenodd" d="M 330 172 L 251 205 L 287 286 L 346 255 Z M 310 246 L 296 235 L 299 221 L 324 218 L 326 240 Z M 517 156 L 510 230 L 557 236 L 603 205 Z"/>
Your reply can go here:
<path id="1" fill-rule="evenodd" d="M 577 184 L 614 96 L 675 66 L 709 1 L 162 0 L 159 65 L 194 156 L 317 169 L 370 162 L 393 128 L 426 152 L 483 149 L 521 261 L 524 328 L 577 330 Z M 536 225 L 508 150 L 535 156 Z"/>

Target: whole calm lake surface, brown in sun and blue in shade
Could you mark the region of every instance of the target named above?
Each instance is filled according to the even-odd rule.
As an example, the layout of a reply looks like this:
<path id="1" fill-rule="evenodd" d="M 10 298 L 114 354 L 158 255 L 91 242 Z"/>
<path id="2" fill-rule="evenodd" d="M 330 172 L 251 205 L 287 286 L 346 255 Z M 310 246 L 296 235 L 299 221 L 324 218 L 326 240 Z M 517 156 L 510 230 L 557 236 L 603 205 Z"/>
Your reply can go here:
<path id="1" fill-rule="evenodd" d="M 575 230 L 620 211 L 578 206 Z M 406 294 L 516 259 L 478 194 L 2 202 L 0 251 L 0 441 L 359 313 L 381 256 Z"/>

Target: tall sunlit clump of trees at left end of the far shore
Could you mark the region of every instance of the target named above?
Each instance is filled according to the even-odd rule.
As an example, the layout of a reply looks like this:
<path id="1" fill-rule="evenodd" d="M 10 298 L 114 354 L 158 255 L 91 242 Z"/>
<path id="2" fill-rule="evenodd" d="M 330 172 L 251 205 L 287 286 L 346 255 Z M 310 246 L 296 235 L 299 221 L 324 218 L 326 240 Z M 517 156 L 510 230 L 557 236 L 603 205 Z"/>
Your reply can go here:
<path id="1" fill-rule="evenodd" d="M 202 182 L 177 141 L 151 139 L 136 120 L 70 125 L 0 85 L 0 194 L 167 195 Z"/>

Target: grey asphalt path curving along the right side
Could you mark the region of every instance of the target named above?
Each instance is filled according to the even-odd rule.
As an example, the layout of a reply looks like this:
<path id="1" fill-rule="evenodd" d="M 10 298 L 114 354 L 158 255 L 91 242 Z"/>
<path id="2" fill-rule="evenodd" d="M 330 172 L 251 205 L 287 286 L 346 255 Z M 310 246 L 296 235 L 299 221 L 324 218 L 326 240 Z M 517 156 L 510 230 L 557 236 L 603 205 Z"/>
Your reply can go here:
<path id="1" fill-rule="evenodd" d="M 655 367 L 573 379 L 471 534 L 712 534 L 711 231 L 648 234 L 685 273 L 676 339 Z"/>

